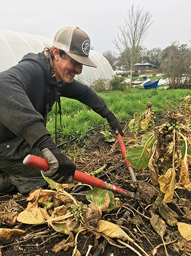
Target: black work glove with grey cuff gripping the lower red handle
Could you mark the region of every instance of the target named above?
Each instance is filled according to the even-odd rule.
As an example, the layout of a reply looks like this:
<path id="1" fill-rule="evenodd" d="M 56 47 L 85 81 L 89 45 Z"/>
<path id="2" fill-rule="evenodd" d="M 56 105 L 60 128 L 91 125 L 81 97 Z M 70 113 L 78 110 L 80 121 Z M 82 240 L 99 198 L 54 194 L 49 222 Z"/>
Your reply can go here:
<path id="1" fill-rule="evenodd" d="M 40 138 L 35 145 L 40 149 L 50 169 L 41 173 L 56 183 L 71 183 L 74 179 L 76 166 L 53 143 L 49 135 Z"/>

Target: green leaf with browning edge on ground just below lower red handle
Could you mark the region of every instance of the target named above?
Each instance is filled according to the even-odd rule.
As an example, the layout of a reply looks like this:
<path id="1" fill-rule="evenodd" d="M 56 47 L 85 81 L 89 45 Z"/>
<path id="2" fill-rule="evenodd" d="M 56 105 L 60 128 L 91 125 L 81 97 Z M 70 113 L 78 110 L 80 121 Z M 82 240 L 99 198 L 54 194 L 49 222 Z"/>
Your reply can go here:
<path id="1" fill-rule="evenodd" d="M 87 201 L 92 201 L 97 204 L 99 207 L 102 207 L 106 200 L 106 195 L 109 194 L 110 203 L 108 206 L 109 211 L 112 211 L 114 208 L 114 194 L 111 191 L 99 189 L 98 187 L 94 187 L 94 189 L 89 190 L 86 193 Z"/>

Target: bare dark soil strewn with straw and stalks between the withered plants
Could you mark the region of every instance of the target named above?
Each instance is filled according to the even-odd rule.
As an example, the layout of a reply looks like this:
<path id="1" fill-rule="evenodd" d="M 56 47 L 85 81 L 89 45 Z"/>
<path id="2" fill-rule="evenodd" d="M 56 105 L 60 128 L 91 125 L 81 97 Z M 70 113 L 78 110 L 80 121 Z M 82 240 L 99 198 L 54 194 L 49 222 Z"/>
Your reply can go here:
<path id="1" fill-rule="evenodd" d="M 156 125 L 159 126 L 164 122 L 164 114 L 158 115 L 156 118 Z M 124 127 L 125 124 L 123 124 Z M 133 145 L 134 142 L 131 140 L 133 135 L 130 134 L 128 127 L 124 127 L 123 141 L 126 143 L 126 147 Z M 105 128 L 103 128 L 105 129 Z M 121 228 L 144 249 L 148 255 L 152 254 L 152 251 L 159 244 L 157 252 L 155 255 L 163 256 L 166 255 L 162 238 L 153 229 L 150 223 L 150 212 L 148 209 L 150 205 L 154 202 L 158 193 L 157 187 L 154 187 L 150 181 L 150 170 L 146 169 L 134 169 L 134 173 L 138 183 L 141 186 L 150 186 L 152 191 L 152 196 L 145 197 L 144 189 L 136 189 L 132 182 L 132 178 L 129 174 L 126 164 L 124 164 L 124 159 L 122 157 L 122 152 L 117 141 L 114 143 L 108 143 L 105 138 L 100 134 L 102 128 L 92 130 L 85 135 L 83 140 L 75 141 L 75 143 L 66 144 L 62 147 L 62 150 L 69 158 L 74 159 L 77 169 L 81 172 L 91 173 L 94 170 L 103 167 L 107 164 L 106 168 L 100 173 L 105 174 L 102 178 L 109 184 L 114 184 L 121 187 L 123 190 L 133 192 L 137 196 L 144 198 L 141 205 L 138 201 L 124 197 L 123 195 L 116 194 L 115 197 L 120 198 L 121 204 L 118 208 L 113 209 L 111 212 L 102 212 L 102 219 L 108 220 L 111 223 L 119 224 L 119 220 L 123 218 L 121 222 Z M 140 133 L 140 139 L 141 139 Z M 88 204 L 86 200 L 86 192 L 89 187 L 82 186 L 75 195 L 72 194 L 75 199 L 84 204 Z M 65 189 L 69 193 L 74 193 L 73 189 Z M 12 192 L 10 195 L 0 194 L 0 203 L 6 208 L 8 205 L 13 203 L 13 201 L 22 209 L 17 209 L 18 212 L 23 211 L 27 207 L 28 201 L 26 201 L 28 195 L 19 195 L 17 192 Z M 7 204 L 8 203 L 8 204 Z M 133 208 L 133 207 L 134 208 Z M 191 196 L 190 192 L 183 189 L 177 189 L 173 201 L 168 203 L 170 209 L 172 209 L 178 216 L 177 221 L 190 224 L 191 217 L 188 209 L 191 210 Z M 187 208 L 186 206 L 190 207 Z M 15 211 L 15 210 L 13 210 Z M 127 214 L 130 218 L 127 217 Z M 160 215 L 157 210 L 156 214 Z M 141 217 L 141 223 L 135 223 L 132 221 L 133 216 Z M 160 216 L 161 218 L 161 216 Z M 43 225 L 25 225 L 20 223 L 15 223 L 14 225 L 8 224 L 6 221 L 1 221 L 1 229 L 15 229 L 19 228 L 25 231 L 24 234 L 13 238 L 10 241 L 1 242 L 0 255 L 3 256 L 41 256 L 41 255 L 80 255 L 73 254 L 74 247 L 69 247 L 67 251 L 63 249 L 59 252 L 53 252 L 52 248 L 59 242 L 66 240 L 68 235 L 60 234 L 52 229 L 52 227 Z M 17 226 L 19 225 L 19 226 Z M 1 232 L 1 231 L 0 231 Z M 1 233 L 0 233 L 1 234 Z M 175 236 L 176 234 L 176 236 Z M 177 235 L 178 234 L 178 235 Z M 74 237 L 76 234 L 74 233 Z M 171 236 L 171 240 L 168 238 Z M 1 236 L 0 236 L 1 238 Z M 170 241 L 170 242 L 169 242 Z M 132 242 L 124 241 L 126 244 L 122 244 L 117 241 L 116 238 L 112 238 L 112 241 L 107 241 L 105 237 L 96 235 L 96 232 L 86 231 L 80 232 L 77 236 L 77 250 L 81 255 L 103 255 L 103 256 L 117 256 L 117 255 L 145 255 L 140 251 Z M 187 242 L 179 233 L 177 225 L 170 226 L 166 224 L 166 232 L 164 234 L 164 242 L 166 243 L 166 250 L 168 255 L 178 256 L 178 255 L 191 255 L 191 242 Z M 169 243 L 168 243 L 169 242 Z M 111 244 L 112 243 L 112 244 Z M 127 247 L 131 246 L 130 248 Z M 92 246 L 89 254 L 87 254 L 88 247 Z M 139 254 L 137 254 L 134 249 L 136 249 Z"/>

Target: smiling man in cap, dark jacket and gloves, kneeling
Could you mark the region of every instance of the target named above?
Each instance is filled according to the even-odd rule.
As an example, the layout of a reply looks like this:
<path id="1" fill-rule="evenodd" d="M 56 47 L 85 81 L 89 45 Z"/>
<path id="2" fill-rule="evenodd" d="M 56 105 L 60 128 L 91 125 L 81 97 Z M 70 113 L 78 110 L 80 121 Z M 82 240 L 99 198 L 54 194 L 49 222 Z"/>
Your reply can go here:
<path id="1" fill-rule="evenodd" d="M 64 27 L 43 53 L 29 53 L 14 67 L 0 73 L 0 192 L 15 189 L 26 194 L 46 186 L 40 170 L 25 166 L 29 153 L 44 157 L 50 165 L 45 177 L 71 183 L 76 166 L 53 143 L 45 128 L 57 95 L 79 100 L 108 120 L 122 134 L 121 124 L 104 100 L 76 81 L 82 66 L 96 67 L 88 58 L 90 39 L 77 27 Z"/>

